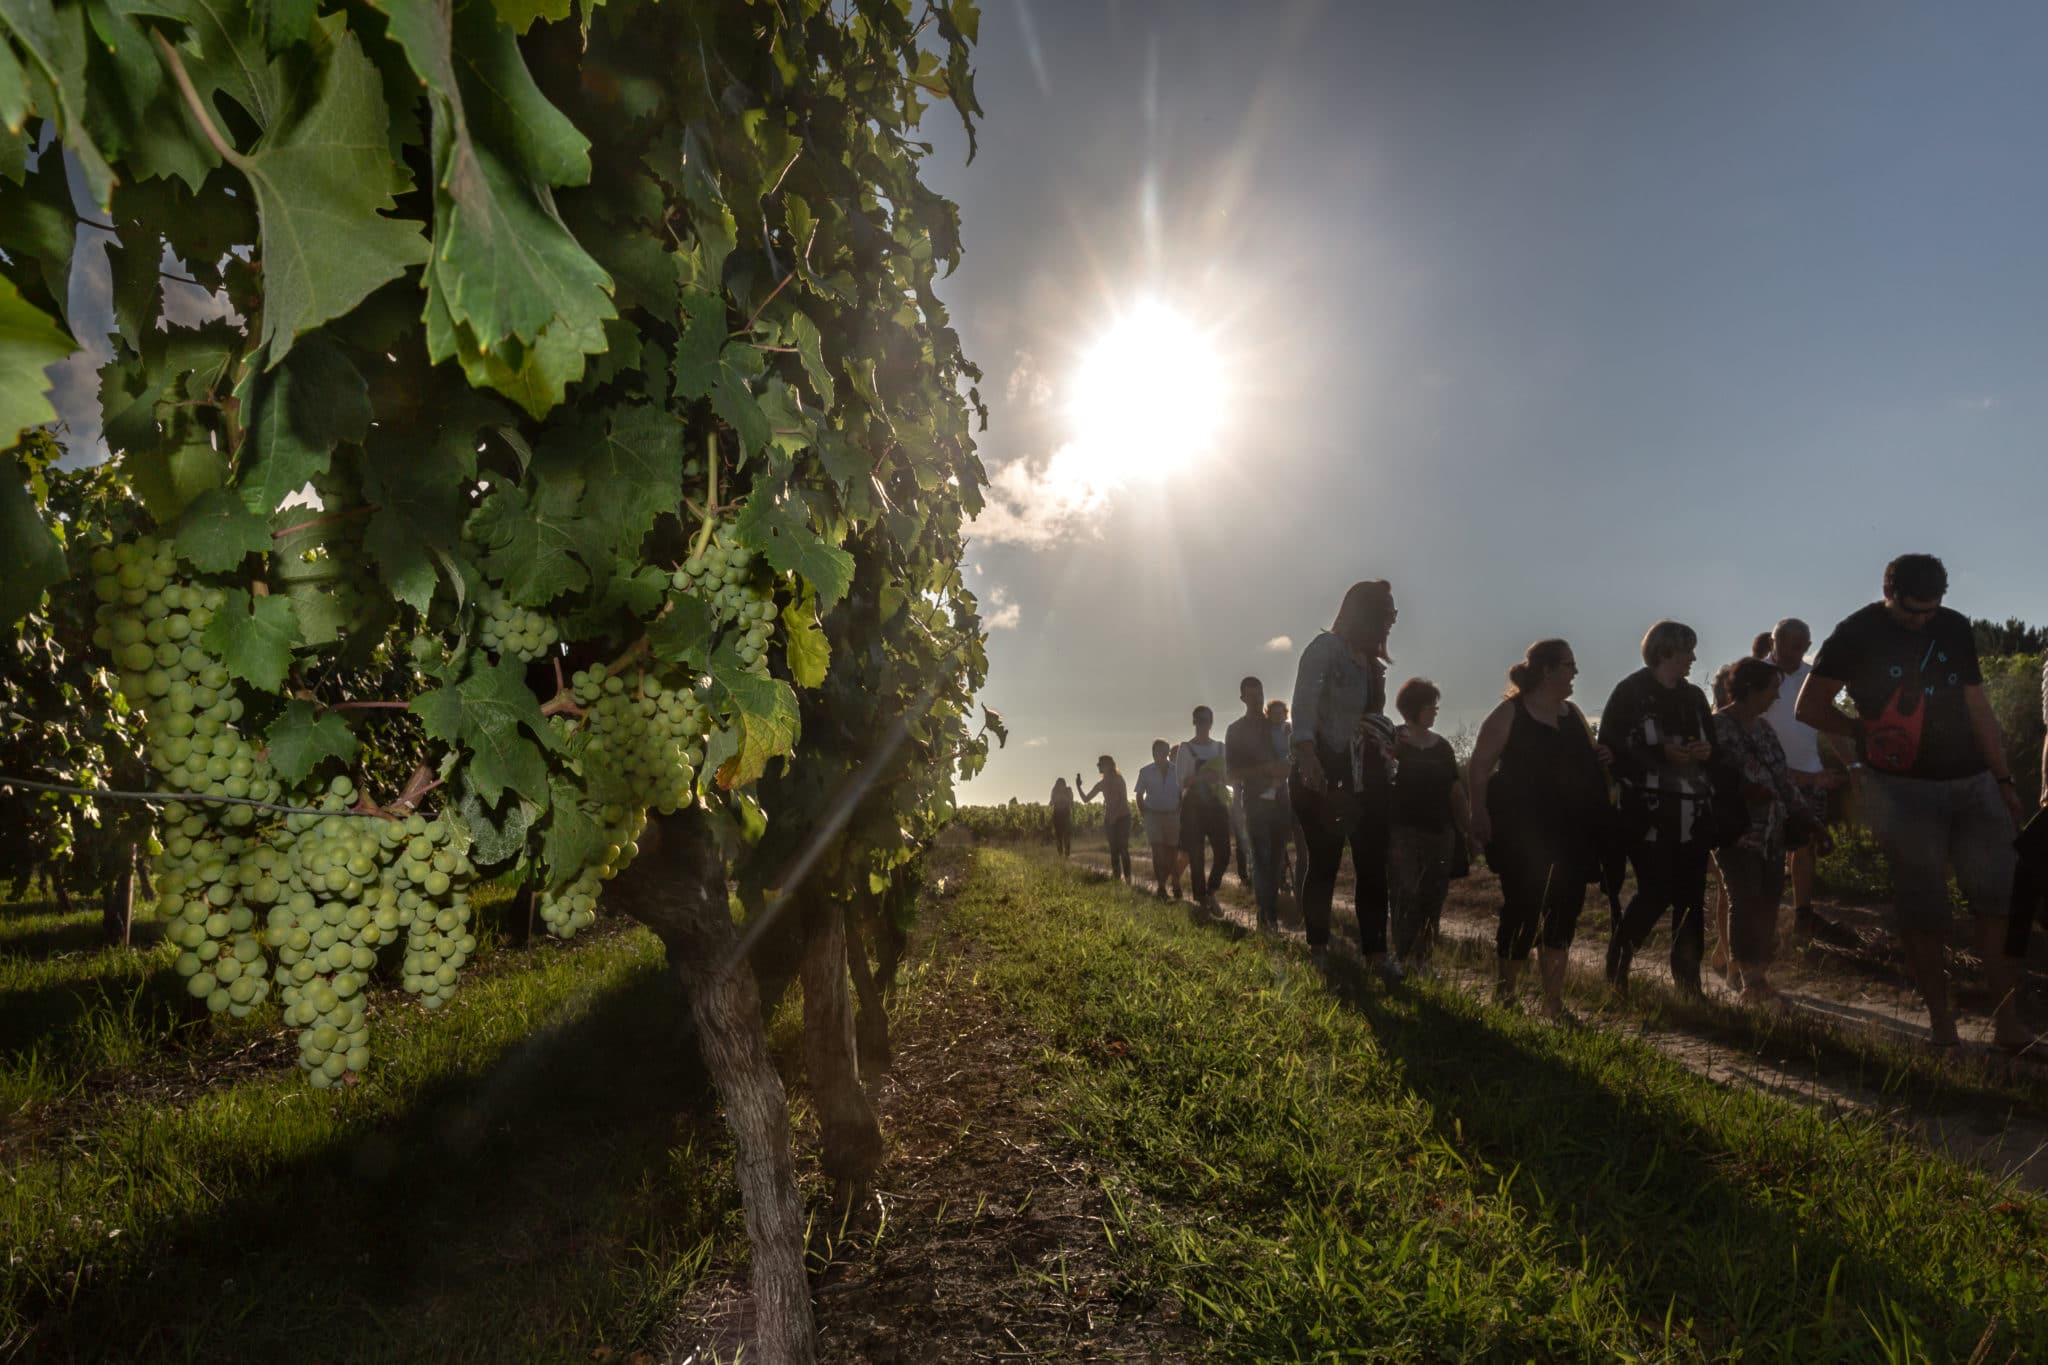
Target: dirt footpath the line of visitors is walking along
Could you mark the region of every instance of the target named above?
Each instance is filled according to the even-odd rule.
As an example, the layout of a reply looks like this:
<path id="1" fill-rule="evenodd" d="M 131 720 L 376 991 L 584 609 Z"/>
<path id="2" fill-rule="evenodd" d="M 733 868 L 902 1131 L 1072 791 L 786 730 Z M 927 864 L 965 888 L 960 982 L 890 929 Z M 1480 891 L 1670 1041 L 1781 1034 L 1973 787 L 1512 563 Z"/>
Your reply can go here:
<path id="1" fill-rule="evenodd" d="M 1350 886 L 1346 853 L 1339 886 Z M 1108 876 L 1100 849 L 1075 849 L 1075 864 Z M 1149 868 L 1147 868 L 1149 870 Z M 1571 952 L 1569 1001 L 1595 1027 L 1618 1027 L 1710 1081 L 1745 1087 L 1815 1107 L 1823 1113 L 1876 1115 L 1929 1150 L 1970 1162 L 2028 1189 L 2048 1187 L 2048 1052 L 2007 1058 L 1991 1048 L 1991 1015 L 1980 982 L 1962 982 L 1958 1029 L 1964 1048 L 1944 1060 L 1927 1050 L 1925 1009 L 1896 966 L 1896 941 L 1876 911 L 1821 902 L 1835 925 L 1833 941 L 1794 948 L 1782 941 L 1774 984 L 1788 1001 L 1782 1015 L 1759 1015 L 1718 974 L 1704 972 L 1706 1003 L 1688 1003 L 1669 988 L 1663 931 L 1636 954 L 1632 1003 L 1606 990 L 1606 905 L 1589 898 Z M 1251 888 L 1227 876 L 1221 921 L 1255 927 Z M 1477 995 L 1493 988 L 1497 878 L 1475 868 L 1452 882 L 1444 905 L 1444 980 Z M 1300 913 L 1290 896 L 1280 905 L 1282 937 L 1303 941 Z M 1790 921 L 1790 917 L 1786 917 Z M 1350 894 L 1335 896 L 1333 939 L 1358 948 Z M 2048 986 L 2038 970 L 2028 986 Z M 1534 997 L 1534 986 L 1528 988 Z"/>

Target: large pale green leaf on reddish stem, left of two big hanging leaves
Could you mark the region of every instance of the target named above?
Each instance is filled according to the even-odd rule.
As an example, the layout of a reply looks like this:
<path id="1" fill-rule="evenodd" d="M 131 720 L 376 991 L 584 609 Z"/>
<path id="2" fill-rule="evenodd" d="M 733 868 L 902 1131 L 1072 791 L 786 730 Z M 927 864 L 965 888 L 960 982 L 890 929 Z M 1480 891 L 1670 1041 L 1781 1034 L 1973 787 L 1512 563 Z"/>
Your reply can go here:
<path id="1" fill-rule="evenodd" d="M 340 317 L 428 258 L 420 223 L 385 217 L 408 188 L 387 131 L 377 68 L 344 31 L 305 117 L 266 125 L 256 151 L 229 158 L 256 190 L 262 342 L 272 366 L 301 332 Z"/>

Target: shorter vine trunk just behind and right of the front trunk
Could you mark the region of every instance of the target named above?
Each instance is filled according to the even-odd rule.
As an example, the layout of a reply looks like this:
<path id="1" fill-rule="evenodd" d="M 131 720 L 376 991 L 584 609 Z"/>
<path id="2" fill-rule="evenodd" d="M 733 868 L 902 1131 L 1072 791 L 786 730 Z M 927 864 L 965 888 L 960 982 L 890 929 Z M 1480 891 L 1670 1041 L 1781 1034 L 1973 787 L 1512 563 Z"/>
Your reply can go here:
<path id="1" fill-rule="evenodd" d="M 883 1162 L 883 1126 L 860 1085 L 854 1005 L 846 990 L 846 913 L 805 894 L 803 1064 L 817 1105 L 821 1164 L 840 1193 L 860 1189 Z"/>

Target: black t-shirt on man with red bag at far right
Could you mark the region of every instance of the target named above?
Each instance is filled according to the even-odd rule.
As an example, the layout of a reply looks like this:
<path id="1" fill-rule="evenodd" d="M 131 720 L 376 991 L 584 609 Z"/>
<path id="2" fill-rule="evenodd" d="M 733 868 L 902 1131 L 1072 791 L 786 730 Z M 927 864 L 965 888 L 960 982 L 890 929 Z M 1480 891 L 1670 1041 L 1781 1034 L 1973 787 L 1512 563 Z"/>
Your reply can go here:
<path id="1" fill-rule="evenodd" d="M 1821 677 L 1849 688 L 1864 720 L 1864 761 L 1905 778 L 1972 778 L 1989 767 L 1964 688 L 1985 681 L 1962 612 L 1942 608 L 1919 630 L 1892 620 L 1882 602 L 1855 612 L 1812 661 Z"/>

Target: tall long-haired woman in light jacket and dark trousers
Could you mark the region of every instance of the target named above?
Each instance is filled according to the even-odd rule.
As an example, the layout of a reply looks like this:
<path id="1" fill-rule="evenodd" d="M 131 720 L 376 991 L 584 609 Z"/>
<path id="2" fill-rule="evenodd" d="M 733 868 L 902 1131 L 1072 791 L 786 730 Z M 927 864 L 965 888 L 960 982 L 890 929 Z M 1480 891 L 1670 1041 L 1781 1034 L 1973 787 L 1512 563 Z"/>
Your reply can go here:
<path id="1" fill-rule="evenodd" d="M 1300 915 L 1309 954 L 1329 952 L 1329 902 L 1343 847 L 1358 874 L 1358 943 L 1380 976 L 1386 958 L 1386 825 L 1393 726 L 1386 724 L 1386 636 L 1395 626 L 1386 581 L 1352 583 L 1337 620 L 1300 653 L 1294 671 L 1294 774 L 1288 794 L 1300 821 L 1307 872 Z"/>

